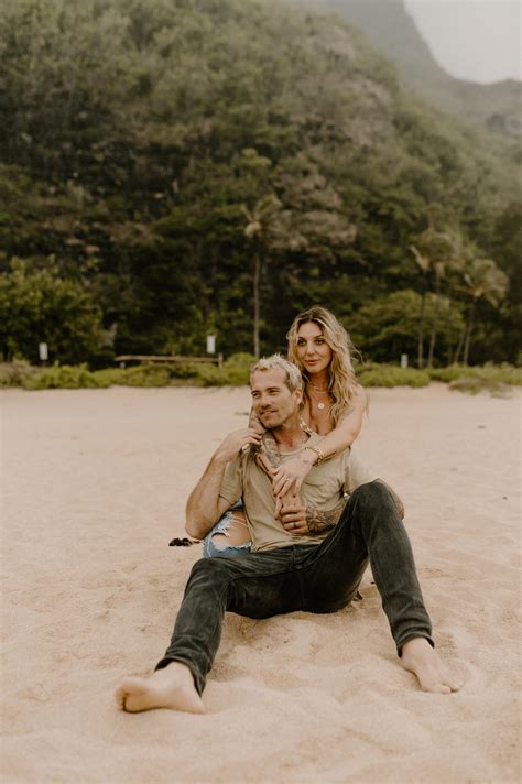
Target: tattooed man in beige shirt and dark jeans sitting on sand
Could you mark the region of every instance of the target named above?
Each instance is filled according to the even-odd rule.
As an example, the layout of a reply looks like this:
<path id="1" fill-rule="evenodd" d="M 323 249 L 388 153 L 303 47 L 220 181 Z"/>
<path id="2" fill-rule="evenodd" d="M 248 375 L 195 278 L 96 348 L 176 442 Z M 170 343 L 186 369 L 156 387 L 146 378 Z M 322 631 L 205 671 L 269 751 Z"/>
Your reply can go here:
<path id="1" fill-rule="evenodd" d="M 186 530 L 203 538 L 242 498 L 252 552 L 202 558 L 194 565 L 164 657 L 151 676 L 123 678 L 117 692 L 120 708 L 204 712 L 202 693 L 226 610 L 249 618 L 335 612 L 356 596 L 368 560 L 402 666 L 426 692 L 458 690 L 460 684 L 433 647 L 398 498 L 349 449 L 320 460 L 320 436 L 304 433 L 300 424 L 302 379 L 291 362 L 278 355 L 260 360 L 252 368 L 250 389 L 254 412 L 281 458 L 312 448 L 318 464 L 301 488 L 301 500 L 278 512 L 270 477 L 254 450 L 246 449 L 259 445 L 259 434 L 243 428 L 225 438 L 191 493 Z M 345 493 L 349 500 L 339 518 Z"/>

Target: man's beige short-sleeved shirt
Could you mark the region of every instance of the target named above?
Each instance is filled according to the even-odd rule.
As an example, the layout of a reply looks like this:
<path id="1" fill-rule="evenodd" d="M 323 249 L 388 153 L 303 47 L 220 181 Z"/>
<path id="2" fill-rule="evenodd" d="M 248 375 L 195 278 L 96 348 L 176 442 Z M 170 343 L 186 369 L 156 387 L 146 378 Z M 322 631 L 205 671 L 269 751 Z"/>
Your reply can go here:
<path id="1" fill-rule="evenodd" d="M 306 446 L 318 444 L 322 436 L 313 434 L 301 449 L 294 453 L 281 453 L 284 460 L 295 457 Z M 301 499 L 305 505 L 328 511 L 334 509 L 345 493 L 350 494 L 360 484 L 377 479 L 351 450 L 314 466 L 301 487 Z M 250 449 L 231 460 L 225 469 L 219 496 L 232 505 L 243 499 L 247 524 L 252 538 L 252 553 L 293 544 L 319 544 L 323 534 L 292 534 L 274 516 L 275 501 L 272 482 L 255 461 Z"/>

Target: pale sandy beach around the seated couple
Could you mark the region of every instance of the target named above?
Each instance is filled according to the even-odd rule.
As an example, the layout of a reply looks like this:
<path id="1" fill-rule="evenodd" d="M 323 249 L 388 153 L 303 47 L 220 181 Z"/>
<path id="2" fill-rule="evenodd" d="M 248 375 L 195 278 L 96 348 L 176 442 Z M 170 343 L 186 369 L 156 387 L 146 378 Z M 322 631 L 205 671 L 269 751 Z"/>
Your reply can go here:
<path id="1" fill-rule="evenodd" d="M 367 573 L 335 614 L 228 614 L 191 716 L 120 712 L 113 689 L 163 655 L 200 555 L 167 545 L 248 389 L 3 391 L 2 782 L 519 782 L 521 400 L 372 390 L 359 439 L 461 692 L 399 666 Z"/>

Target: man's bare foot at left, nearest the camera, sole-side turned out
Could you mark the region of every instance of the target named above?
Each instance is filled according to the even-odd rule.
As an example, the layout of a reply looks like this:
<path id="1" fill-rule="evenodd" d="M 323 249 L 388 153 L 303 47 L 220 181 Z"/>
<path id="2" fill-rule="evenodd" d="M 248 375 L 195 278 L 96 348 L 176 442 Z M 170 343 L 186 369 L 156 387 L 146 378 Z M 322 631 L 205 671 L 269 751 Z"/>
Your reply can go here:
<path id="1" fill-rule="evenodd" d="M 205 712 L 192 672 L 181 662 L 172 662 L 146 678 L 123 678 L 116 692 L 116 700 L 121 710 L 131 714 L 153 708 L 171 708 L 188 714 Z"/>

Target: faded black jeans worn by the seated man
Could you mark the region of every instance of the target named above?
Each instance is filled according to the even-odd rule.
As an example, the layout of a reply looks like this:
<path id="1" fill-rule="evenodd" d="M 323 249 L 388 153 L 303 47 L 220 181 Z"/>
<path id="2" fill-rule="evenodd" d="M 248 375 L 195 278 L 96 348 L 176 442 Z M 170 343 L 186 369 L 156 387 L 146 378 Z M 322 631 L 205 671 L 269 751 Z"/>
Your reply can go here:
<path id="1" fill-rule="evenodd" d="M 183 662 L 202 694 L 226 610 L 249 618 L 296 610 L 335 612 L 357 594 L 368 560 L 399 654 L 413 638 L 426 638 L 433 645 L 410 540 L 389 490 L 374 481 L 357 488 L 336 527 L 318 545 L 198 560 L 156 669 Z"/>

